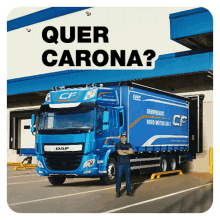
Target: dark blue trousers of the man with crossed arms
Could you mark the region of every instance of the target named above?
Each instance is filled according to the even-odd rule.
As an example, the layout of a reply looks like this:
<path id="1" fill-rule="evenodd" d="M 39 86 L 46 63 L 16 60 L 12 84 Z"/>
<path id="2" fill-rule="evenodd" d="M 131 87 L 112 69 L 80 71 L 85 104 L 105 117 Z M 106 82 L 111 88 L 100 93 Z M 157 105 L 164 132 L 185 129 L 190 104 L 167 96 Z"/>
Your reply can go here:
<path id="1" fill-rule="evenodd" d="M 130 163 L 117 163 L 117 182 L 116 182 L 117 193 L 119 193 L 121 189 L 121 179 L 123 176 L 123 172 L 125 172 L 127 192 L 131 193 L 130 168 L 131 168 Z"/>

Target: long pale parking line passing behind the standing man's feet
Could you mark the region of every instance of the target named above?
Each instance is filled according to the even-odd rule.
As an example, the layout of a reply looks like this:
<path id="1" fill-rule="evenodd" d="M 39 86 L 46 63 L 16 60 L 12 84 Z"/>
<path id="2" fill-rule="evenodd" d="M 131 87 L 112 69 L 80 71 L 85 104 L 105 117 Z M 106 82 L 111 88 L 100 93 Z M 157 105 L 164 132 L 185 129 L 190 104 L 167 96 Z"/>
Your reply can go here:
<path id="1" fill-rule="evenodd" d="M 162 181 L 166 178 L 157 180 L 157 181 Z M 133 183 L 131 184 L 136 185 L 136 184 L 142 184 L 142 183 L 148 183 L 148 182 L 153 182 L 152 180 L 148 180 L 148 181 L 144 181 L 144 182 L 138 182 L 138 183 Z M 126 184 L 122 184 L 121 186 L 125 186 Z M 87 193 L 92 193 L 92 192 L 100 192 L 100 191 L 105 191 L 105 190 L 109 190 L 109 189 L 115 189 L 116 186 L 112 186 L 112 187 L 108 187 L 108 188 L 104 188 L 104 189 L 97 189 L 97 190 L 92 190 L 92 191 L 86 191 L 86 192 L 79 192 L 79 193 L 74 193 L 74 194 L 68 194 L 68 195 L 63 195 L 63 196 L 55 196 L 55 197 L 48 197 L 45 199 L 36 199 L 36 200 L 30 200 L 30 201 L 25 201 L 25 202 L 18 202 L 18 203 L 12 203 L 9 205 L 20 205 L 20 204 L 26 204 L 26 203 L 31 203 L 31 202 L 39 202 L 39 201 L 45 201 L 45 200 L 49 200 L 49 199 L 58 199 L 58 198 L 63 198 L 63 197 L 68 197 L 68 196 L 76 196 L 76 195 L 82 195 L 82 194 L 87 194 Z"/>

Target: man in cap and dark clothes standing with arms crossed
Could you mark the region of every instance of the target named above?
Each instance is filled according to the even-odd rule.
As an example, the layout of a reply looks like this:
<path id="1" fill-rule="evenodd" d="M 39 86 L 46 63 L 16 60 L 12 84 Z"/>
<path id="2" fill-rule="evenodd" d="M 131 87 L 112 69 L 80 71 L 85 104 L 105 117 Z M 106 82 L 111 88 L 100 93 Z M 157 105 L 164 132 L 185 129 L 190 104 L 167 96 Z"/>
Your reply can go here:
<path id="1" fill-rule="evenodd" d="M 115 145 L 117 152 L 117 182 L 116 197 L 120 197 L 121 179 L 125 172 L 127 195 L 133 196 L 131 193 L 131 177 L 130 177 L 130 154 L 134 154 L 131 144 L 127 143 L 126 134 L 121 135 L 121 141 Z"/>

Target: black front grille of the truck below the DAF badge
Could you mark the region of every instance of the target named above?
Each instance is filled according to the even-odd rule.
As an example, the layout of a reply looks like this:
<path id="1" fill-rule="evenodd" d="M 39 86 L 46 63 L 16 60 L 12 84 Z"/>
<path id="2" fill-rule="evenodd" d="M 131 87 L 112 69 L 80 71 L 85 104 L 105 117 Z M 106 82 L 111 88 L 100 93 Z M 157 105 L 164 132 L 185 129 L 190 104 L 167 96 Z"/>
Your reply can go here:
<path id="1" fill-rule="evenodd" d="M 47 152 L 44 154 L 44 160 L 50 170 L 76 170 L 82 155 L 82 152 Z"/>

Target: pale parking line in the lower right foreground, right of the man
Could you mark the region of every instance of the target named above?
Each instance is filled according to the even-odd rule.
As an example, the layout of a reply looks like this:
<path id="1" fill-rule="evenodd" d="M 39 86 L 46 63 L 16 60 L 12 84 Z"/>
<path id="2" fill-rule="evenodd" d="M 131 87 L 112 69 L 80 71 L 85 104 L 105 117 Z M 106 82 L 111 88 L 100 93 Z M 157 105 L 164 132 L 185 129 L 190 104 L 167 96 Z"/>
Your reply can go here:
<path id="1" fill-rule="evenodd" d="M 160 196 L 160 197 L 157 197 L 157 198 L 154 198 L 154 199 L 145 200 L 143 202 L 134 203 L 134 204 L 131 204 L 131 205 L 123 206 L 121 208 L 112 209 L 112 210 L 109 210 L 109 211 L 104 212 L 104 213 L 117 212 L 117 211 L 120 211 L 122 209 L 127 209 L 127 208 L 130 208 L 130 207 L 133 207 L 133 206 L 142 205 L 142 204 L 153 202 L 153 201 L 156 201 L 156 200 L 159 200 L 159 199 L 164 199 L 164 198 L 167 198 L 167 197 L 170 197 L 170 196 L 178 195 L 180 193 L 188 192 L 188 191 L 191 191 L 191 190 L 194 190 L 194 189 L 199 189 L 201 187 L 208 186 L 208 185 L 211 185 L 211 184 L 213 184 L 213 183 L 209 183 L 209 184 L 205 184 L 205 185 L 202 185 L 202 186 L 193 187 L 193 188 L 190 188 L 190 189 L 186 189 L 186 190 L 182 190 L 182 191 L 179 191 L 179 192 L 171 193 L 171 194 L 168 194 L 168 195 L 165 195 L 165 196 Z"/>

